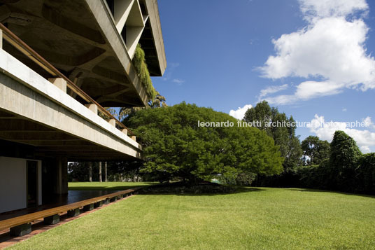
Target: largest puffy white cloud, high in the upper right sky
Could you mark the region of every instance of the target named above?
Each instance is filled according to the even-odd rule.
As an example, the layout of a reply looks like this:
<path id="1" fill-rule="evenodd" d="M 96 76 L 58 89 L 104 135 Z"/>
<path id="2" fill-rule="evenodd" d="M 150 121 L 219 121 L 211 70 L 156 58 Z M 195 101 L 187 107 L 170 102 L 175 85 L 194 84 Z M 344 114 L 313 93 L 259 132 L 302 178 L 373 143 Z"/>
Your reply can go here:
<path id="1" fill-rule="evenodd" d="M 309 25 L 274 39 L 276 55 L 269 56 L 260 71 L 265 78 L 308 81 L 299 83 L 293 95 L 265 99 L 288 104 L 336 95 L 345 88 L 375 88 L 375 60 L 365 48 L 369 27 L 360 18 L 347 19 L 367 11 L 366 1 L 299 0 L 299 4 Z"/>

